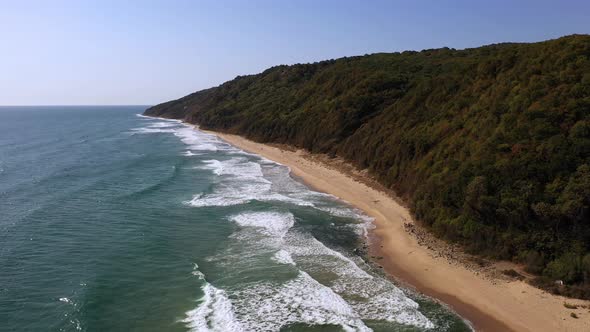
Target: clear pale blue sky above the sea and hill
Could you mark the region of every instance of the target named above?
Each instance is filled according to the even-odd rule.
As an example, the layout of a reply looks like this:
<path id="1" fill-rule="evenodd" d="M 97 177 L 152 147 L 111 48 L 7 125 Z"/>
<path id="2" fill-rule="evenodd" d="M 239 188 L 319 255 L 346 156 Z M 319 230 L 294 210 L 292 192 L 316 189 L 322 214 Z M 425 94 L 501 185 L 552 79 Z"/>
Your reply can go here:
<path id="1" fill-rule="evenodd" d="M 154 104 L 277 64 L 572 33 L 589 0 L 0 0 L 0 105 Z"/>

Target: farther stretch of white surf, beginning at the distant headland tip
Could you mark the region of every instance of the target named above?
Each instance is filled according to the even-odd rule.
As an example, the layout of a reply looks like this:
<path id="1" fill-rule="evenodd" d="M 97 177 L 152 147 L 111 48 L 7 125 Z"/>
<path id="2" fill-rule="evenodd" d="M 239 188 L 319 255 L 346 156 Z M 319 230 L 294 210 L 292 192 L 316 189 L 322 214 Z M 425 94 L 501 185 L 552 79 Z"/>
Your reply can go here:
<path id="1" fill-rule="evenodd" d="M 150 123 L 147 127 L 136 128 L 136 132 L 173 133 L 188 146 L 188 150 L 183 153 L 185 156 L 200 155 L 198 151 L 223 151 L 229 155 L 239 155 L 226 160 L 203 160 L 203 164 L 197 168 L 211 170 L 215 175 L 225 177 L 227 183 L 222 181 L 211 193 L 194 195 L 190 201 L 186 202 L 188 205 L 232 206 L 258 200 L 309 206 L 336 217 L 363 221 L 364 223 L 357 227 L 357 231 L 359 235 L 366 236 L 372 218 L 354 208 L 335 207 L 333 204 L 333 201 L 337 200 L 335 196 L 310 190 L 305 185 L 294 181 L 288 167 L 238 149 L 215 135 L 204 133 L 179 120 L 147 118 L 156 122 Z M 329 201 L 326 202 L 326 199 Z"/>

